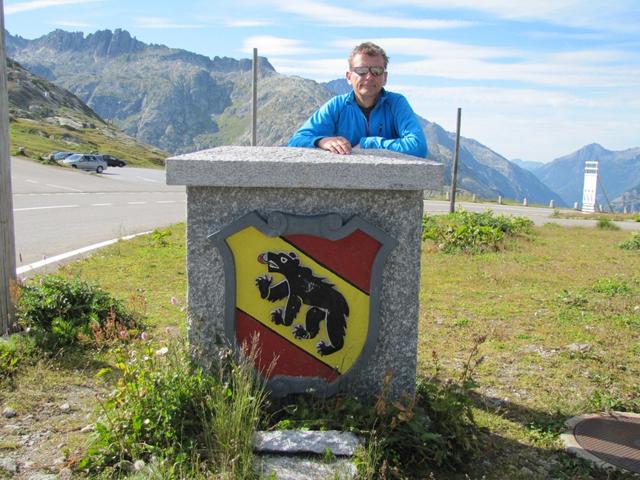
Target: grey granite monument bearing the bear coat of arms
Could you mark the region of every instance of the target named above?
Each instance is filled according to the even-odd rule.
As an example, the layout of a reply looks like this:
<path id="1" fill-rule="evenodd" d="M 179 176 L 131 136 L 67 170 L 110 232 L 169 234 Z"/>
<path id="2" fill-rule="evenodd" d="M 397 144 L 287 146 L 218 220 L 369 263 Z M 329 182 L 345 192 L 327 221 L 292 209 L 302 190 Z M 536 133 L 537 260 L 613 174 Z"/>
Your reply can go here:
<path id="1" fill-rule="evenodd" d="M 219 147 L 167 160 L 187 187 L 189 340 L 256 338 L 276 395 L 415 389 L 423 190 L 443 166 L 386 150 Z"/>

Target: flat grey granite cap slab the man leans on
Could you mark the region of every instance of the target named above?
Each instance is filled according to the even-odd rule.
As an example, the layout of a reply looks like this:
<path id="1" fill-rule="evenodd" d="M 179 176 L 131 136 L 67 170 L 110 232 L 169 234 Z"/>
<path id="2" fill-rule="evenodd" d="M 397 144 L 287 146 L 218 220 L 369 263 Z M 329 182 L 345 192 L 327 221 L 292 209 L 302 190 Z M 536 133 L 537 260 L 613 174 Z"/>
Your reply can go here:
<path id="1" fill-rule="evenodd" d="M 319 149 L 218 147 L 167 159 L 169 185 L 430 190 L 442 165 L 389 150 L 336 155 Z"/>

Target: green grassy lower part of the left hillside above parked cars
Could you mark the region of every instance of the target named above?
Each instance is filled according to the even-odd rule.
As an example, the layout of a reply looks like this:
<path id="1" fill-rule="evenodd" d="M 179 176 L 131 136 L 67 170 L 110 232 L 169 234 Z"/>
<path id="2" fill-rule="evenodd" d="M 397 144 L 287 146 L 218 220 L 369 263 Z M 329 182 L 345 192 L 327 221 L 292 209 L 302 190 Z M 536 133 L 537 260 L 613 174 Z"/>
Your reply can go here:
<path id="1" fill-rule="evenodd" d="M 75 129 L 28 119 L 10 123 L 11 155 L 18 155 L 18 147 L 25 156 L 34 160 L 47 157 L 55 151 L 78 153 L 109 153 L 122 158 L 132 166 L 160 168 L 169 156 L 150 145 L 116 131 L 107 125 L 97 128 Z"/>

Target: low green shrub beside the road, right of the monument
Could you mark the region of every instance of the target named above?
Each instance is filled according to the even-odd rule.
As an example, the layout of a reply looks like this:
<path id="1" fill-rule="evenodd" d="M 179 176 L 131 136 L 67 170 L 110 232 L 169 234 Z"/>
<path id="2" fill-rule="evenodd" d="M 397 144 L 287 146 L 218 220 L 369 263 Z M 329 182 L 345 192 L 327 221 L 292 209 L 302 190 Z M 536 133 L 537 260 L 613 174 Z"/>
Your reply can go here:
<path id="1" fill-rule="evenodd" d="M 433 241 L 444 253 L 482 253 L 499 250 L 507 237 L 529 234 L 533 222 L 523 217 L 494 216 L 464 210 L 422 219 L 422 239 Z"/>

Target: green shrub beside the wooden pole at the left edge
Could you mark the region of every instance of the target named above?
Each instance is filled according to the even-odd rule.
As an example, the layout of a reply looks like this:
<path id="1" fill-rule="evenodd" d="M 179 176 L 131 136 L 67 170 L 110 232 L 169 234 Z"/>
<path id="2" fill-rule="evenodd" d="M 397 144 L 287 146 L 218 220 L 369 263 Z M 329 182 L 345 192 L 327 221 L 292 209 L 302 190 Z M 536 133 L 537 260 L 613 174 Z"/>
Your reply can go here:
<path id="1" fill-rule="evenodd" d="M 56 275 L 19 287 L 18 324 L 45 351 L 126 340 L 139 319 L 96 285 Z"/>

